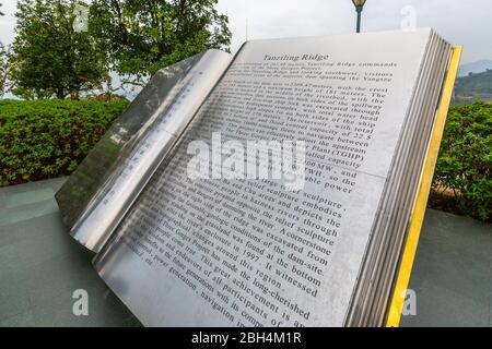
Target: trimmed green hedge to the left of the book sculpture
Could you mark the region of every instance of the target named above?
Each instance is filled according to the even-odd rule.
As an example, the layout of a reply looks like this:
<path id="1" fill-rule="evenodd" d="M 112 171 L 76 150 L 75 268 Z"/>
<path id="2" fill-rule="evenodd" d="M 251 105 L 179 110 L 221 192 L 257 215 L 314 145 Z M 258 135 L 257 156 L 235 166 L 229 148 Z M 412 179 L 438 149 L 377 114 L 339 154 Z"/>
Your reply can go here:
<path id="1" fill-rule="evenodd" d="M 0 100 L 0 186 L 71 173 L 127 106 Z"/>

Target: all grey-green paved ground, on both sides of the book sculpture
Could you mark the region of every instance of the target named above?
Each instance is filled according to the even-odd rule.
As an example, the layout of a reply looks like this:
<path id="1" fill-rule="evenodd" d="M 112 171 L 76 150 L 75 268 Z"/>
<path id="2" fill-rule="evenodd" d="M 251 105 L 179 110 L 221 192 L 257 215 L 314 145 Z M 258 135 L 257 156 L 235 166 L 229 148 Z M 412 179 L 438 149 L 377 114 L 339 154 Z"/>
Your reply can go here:
<path id="1" fill-rule="evenodd" d="M 62 226 L 63 179 L 0 190 L 0 326 L 139 326 Z M 417 316 L 402 326 L 491 326 L 492 227 L 427 210 L 410 288 Z M 89 293 L 89 316 L 72 313 Z"/>

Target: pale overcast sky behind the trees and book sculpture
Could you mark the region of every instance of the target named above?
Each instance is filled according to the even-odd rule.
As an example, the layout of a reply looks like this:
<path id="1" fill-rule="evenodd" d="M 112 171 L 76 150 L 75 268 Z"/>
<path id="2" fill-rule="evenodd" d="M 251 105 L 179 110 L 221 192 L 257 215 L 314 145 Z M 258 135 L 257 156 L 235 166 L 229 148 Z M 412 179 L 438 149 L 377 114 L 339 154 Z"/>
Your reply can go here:
<path id="1" fill-rule="evenodd" d="M 0 40 L 8 44 L 14 37 L 16 1 L 0 2 L 5 13 Z M 345 34 L 355 25 L 351 0 L 219 0 L 219 10 L 229 16 L 233 52 L 246 37 Z M 367 0 L 362 29 L 399 29 L 412 12 L 417 27 L 432 26 L 452 44 L 464 45 L 464 63 L 492 59 L 491 0 Z"/>

